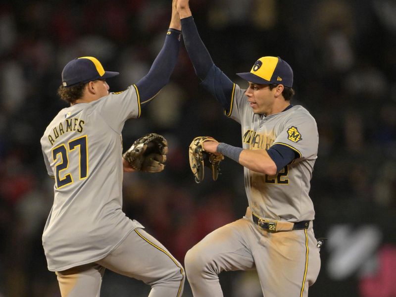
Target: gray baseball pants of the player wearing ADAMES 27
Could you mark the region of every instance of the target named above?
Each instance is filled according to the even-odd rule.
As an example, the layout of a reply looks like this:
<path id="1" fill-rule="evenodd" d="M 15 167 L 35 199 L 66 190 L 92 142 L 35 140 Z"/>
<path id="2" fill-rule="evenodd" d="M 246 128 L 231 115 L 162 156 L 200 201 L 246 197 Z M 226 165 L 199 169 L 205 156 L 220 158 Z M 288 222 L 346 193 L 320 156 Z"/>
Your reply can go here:
<path id="1" fill-rule="evenodd" d="M 103 259 L 56 272 L 61 296 L 99 297 L 106 268 L 150 285 L 149 297 L 182 296 L 185 281 L 182 265 L 141 228 L 132 231 Z"/>

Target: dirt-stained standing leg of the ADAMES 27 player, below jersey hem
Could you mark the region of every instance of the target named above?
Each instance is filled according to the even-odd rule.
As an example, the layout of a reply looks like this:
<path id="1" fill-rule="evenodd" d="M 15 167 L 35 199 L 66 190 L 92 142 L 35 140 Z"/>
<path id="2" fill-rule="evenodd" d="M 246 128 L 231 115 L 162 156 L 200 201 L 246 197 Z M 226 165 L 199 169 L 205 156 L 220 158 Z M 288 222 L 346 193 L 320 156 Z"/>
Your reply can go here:
<path id="1" fill-rule="evenodd" d="M 62 297 L 99 297 L 105 268 L 92 263 L 55 272 Z"/>

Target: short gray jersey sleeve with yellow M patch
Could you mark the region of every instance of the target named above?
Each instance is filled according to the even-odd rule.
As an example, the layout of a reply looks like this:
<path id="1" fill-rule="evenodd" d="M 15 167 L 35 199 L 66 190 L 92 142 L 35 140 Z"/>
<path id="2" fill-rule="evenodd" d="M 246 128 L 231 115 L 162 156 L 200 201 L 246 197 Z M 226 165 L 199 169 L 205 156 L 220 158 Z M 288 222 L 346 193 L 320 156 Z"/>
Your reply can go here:
<path id="1" fill-rule="evenodd" d="M 298 154 L 295 161 L 316 159 L 318 152 L 318 128 L 315 119 L 303 110 L 297 110 L 285 120 L 272 145 L 284 145 Z"/>

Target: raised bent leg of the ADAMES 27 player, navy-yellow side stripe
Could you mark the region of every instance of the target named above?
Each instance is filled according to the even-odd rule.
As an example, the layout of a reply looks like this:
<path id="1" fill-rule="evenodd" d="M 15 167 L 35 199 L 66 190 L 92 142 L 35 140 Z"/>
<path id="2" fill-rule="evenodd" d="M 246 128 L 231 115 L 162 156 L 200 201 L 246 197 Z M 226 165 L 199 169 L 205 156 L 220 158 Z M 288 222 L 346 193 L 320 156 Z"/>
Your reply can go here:
<path id="1" fill-rule="evenodd" d="M 180 297 L 185 272 L 182 265 L 154 237 L 141 228 L 132 231 L 98 264 L 151 286 L 149 297 Z"/>

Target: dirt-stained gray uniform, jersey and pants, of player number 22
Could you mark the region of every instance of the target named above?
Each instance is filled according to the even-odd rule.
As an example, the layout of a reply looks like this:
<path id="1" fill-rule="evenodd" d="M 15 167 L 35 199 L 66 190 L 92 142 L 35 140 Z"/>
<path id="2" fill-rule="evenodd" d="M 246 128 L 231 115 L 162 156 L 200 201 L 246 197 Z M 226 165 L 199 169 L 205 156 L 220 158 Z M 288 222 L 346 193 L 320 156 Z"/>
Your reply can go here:
<path id="1" fill-rule="evenodd" d="M 314 219 L 308 192 L 318 149 L 316 122 L 298 105 L 267 117 L 254 114 L 245 90 L 235 84 L 229 106 L 226 115 L 242 127 L 243 148 L 278 144 L 293 149 L 298 157 L 274 176 L 244 168 L 249 204 L 244 218 L 211 232 L 186 254 L 193 294 L 221 297 L 217 274 L 255 268 L 265 297 L 306 297 L 320 270 L 312 222 L 305 230 L 272 233 L 253 223 L 252 212 L 278 220 L 277 230 L 279 221 Z"/>

